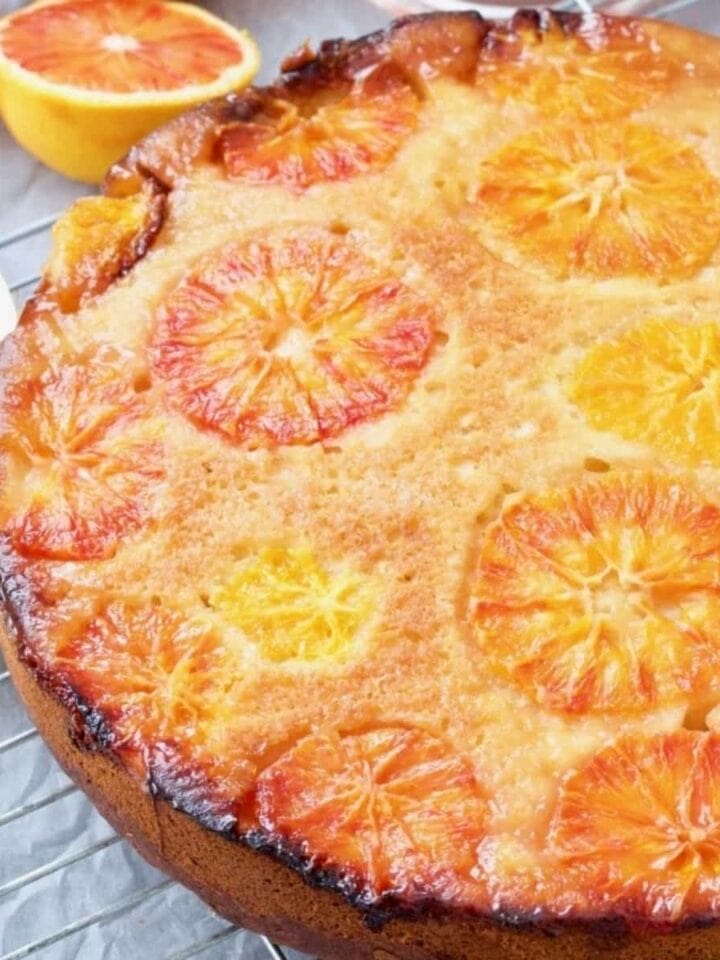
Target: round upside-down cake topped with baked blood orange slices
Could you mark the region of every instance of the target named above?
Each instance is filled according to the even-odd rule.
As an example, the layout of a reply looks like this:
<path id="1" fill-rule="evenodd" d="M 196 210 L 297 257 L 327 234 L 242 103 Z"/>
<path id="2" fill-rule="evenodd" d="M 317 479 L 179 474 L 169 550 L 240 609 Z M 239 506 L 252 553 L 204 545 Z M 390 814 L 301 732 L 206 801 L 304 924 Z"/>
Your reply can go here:
<path id="1" fill-rule="evenodd" d="M 321 956 L 720 952 L 720 45 L 408 18 L 58 223 L 2 350 L 61 762 Z"/>

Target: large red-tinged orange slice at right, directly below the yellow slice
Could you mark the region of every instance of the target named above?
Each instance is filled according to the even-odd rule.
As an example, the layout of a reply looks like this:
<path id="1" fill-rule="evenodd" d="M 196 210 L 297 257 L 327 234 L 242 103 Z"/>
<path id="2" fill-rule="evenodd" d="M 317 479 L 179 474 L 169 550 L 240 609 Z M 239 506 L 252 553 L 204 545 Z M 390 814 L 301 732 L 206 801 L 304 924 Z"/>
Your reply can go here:
<path id="1" fill-rule="evenodd" d="M 700 694 L 720 655 L 720 508 L 613 474 L 513 501 L 487 532 L 473 623 L 490 669 L 557 710 Z"/>

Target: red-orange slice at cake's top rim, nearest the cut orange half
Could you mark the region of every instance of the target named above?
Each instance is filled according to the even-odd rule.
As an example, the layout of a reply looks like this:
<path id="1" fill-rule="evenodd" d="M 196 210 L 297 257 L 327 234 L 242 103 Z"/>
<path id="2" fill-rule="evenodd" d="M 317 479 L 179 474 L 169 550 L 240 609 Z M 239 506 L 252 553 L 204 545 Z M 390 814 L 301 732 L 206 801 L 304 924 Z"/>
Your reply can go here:
<path id="1" fill-rule="evenodd" d="M 221 151 L 231 177 L 303 191 L 382 169 L 418 122 L 419 102 L 399 70 L 376 68 L 309 116 L 288 100 L 228 127 Z"/>

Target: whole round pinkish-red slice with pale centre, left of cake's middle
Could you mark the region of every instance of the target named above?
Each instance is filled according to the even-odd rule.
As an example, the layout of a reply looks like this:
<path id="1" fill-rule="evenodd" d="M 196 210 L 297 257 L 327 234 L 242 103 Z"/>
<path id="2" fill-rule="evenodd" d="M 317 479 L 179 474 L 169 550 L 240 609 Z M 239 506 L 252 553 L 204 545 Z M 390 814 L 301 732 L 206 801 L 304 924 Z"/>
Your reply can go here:
<path id="1" fill-rule="evenodd" d="M 201 427 L 251 446 L 313 443 L 397 407 L 433 324 L 357 241 L 296 227 L 201 260 L 159 311 L 154 366 Z"/>

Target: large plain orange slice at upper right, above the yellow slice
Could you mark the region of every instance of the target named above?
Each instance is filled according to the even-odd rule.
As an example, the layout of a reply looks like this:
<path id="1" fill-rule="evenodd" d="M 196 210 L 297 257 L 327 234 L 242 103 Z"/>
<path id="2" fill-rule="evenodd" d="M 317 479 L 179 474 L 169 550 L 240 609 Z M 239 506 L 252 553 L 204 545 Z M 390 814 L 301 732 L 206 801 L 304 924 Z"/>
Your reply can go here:
<path id="1" fill-rule="evenodd" d="M 483 161 L 489 242 L 558 277 L 694 274 L 720 242 L 720 181 L 687 144 L 640 124 L 544 127 Z"/>

